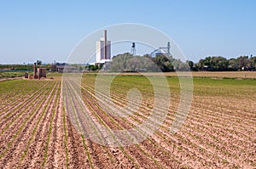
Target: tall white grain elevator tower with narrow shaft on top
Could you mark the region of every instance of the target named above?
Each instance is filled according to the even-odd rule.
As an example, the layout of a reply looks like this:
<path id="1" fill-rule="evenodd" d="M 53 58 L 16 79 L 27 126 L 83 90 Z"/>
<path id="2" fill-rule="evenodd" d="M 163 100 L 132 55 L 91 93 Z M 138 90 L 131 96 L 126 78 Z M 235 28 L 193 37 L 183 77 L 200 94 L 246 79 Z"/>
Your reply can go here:
<path id="1" fill-rule="evenodd" d="M 107 39 L 107 30 L 104 31 L 104 37 L 96 42 L 96 63 L 109 62 L 111 59 L 111 41 Z"/>

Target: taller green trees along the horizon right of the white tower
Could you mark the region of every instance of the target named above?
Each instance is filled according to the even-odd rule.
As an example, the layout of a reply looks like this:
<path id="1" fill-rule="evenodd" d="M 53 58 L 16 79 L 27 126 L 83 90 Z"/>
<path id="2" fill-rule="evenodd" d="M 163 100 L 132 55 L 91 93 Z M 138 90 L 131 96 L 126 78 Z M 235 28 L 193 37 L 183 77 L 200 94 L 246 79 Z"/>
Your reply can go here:
<path id="1" fill-rule="evenodd" d="M 209 56 L 200 59 L 198 63 L 187 60 L 182 62 L 172 56 L 163 54 L 152 58 L 149 54 L 133 56 L 125 53 L 114 56 L 109 64 L 112 71 L 175 71 L 175 70 L 209 70 L 209 71 L 236 71 L 256 70 L 256 56 L 240 56 L 226 59 L 222 56 Z"/>

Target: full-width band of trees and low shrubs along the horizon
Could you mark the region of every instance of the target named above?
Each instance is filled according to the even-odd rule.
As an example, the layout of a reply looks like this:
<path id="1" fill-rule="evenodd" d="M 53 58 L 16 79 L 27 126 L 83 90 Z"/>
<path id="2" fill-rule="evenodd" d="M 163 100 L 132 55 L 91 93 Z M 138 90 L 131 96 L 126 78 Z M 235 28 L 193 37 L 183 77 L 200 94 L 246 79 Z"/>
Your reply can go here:
<path id="1" fill-rule="evenodd" d="M 65 63 L 55 63 L 53 65 L 42 65 L 37 60 L 37 65 L 46 70 L 56 70 L 56 66 L 65 66 Z M 105 65 L 70 65 L 75 70 L 110 70 L 110 71 L 175 71 L 175 70 L 209 70 L 209 71 L 236 71 L 236 70 L 256 70 L 256 56 L 240 56 L 238 58 L 226 59 L 222 56 L 209 56 L 200 59 L 197 63 L 187 60 L 174 59 L 172 56 L 164 54 L 151 57 L 149 54 L 143 56 L 132 55 L 130 53 L 113 56 L 110 63 Z M 1 65 L 0 71 L 32 71 L 33 65 Z"/>

